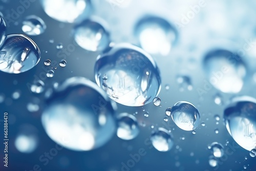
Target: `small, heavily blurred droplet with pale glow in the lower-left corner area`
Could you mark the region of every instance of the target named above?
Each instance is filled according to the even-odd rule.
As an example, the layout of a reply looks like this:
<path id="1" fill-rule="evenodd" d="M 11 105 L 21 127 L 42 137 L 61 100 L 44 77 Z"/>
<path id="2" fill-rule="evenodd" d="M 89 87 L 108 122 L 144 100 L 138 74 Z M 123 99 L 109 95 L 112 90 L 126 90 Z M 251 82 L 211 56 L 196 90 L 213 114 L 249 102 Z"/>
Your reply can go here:
<path id="1" fill-rule="evenodd" d="M 14 145 L 20 153 L 32 153 L 38 146 L 37 129 L 30 124 L 24 124 L 19 128 Z"/>

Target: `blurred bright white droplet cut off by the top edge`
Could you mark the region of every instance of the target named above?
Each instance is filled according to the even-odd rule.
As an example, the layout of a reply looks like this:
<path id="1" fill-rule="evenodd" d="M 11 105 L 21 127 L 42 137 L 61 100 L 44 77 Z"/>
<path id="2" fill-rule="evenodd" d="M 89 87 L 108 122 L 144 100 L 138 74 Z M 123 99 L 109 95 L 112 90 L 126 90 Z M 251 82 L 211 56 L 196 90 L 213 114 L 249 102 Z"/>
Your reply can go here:
<path id="1" fill-rule="evenodd" d="M 47 15 L 59 22 L 74 23 L 79 16 L 87 16 L 91 10 L 89 0 L 40 0 Z"/>

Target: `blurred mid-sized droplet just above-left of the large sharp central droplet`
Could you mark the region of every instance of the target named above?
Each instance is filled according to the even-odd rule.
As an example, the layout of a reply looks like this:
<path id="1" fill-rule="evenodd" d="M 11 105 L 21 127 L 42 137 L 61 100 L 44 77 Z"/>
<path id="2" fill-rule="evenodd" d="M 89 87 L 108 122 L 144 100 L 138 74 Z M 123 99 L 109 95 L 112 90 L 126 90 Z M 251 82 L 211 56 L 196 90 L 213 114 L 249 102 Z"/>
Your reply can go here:
<path id="1" fill-rule="evenodd" d="M 74 28 L 74 39 L 85 50 L 102 51 L 110 44 L 110 34 L 105 25 L 99 18 L 83 20 Z"/>

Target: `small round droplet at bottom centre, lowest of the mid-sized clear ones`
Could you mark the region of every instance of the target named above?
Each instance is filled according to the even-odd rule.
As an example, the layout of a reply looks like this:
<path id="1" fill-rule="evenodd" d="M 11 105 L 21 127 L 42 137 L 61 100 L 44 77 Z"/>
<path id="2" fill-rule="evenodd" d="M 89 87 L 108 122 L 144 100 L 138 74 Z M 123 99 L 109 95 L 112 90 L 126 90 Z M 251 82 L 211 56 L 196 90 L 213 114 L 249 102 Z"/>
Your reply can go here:
<path id="1" fill-rule="evenodd" d="M 162 127 L 159 127 L 158 131 L 154 132 L 150 139 L 152 145 L 160 152 L 167 152 L 174 145 L 173 136 Z"/>

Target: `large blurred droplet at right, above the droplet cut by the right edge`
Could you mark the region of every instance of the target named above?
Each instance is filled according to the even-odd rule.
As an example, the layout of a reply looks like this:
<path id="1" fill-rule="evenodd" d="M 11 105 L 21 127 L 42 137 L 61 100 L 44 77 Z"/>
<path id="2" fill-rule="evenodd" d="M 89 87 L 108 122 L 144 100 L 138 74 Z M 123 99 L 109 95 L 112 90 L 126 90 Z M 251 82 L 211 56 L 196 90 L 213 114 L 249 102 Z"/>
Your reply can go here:
<path id="1" fill-rule="evenodd" d="M 246 76 L 246 67 L 240 56 L 227 50 L 215 50 L 205 56 L 203 65 L 209 82 L 216 89 L 223 93 L 241 91 Z M 210 85 L 205 86 L 204 89 L 209 91 Z"/>

